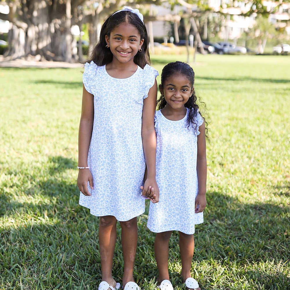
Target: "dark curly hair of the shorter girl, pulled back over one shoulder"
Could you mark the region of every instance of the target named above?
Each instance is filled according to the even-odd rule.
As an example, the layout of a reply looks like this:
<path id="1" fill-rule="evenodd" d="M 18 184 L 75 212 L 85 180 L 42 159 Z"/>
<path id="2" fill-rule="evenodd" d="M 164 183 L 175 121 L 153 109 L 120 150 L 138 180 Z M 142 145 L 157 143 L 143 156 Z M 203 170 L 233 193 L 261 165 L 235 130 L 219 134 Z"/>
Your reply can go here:
<path id="1" fill-rule="evenodd" d="M 182 62 L 182 61 L 170 62 L 169 64 L 164 66 L 161 73 L 161 86 L 163 87 L 166 79 L 177 74 L 184 75 L 191 83 L 191 88 L 194 87 L 195 74 L 194 74 L 193 68 L 189 64 L 186 64 L 185 62 Z M 197 123 L 195 122 L 195 117 L 198 112 L 204 119 L 204 123 L 206 125 L 205 135 L 207 139 L 209 139 L 208 128 L 207 128 L 208 123 L 206 122 L 206 119 L 204 117 L 205 112 L 204 113 L 200 112 L 200 105 L 202 105 L 203 111 L 206 111 L 206 104 L 204 102 L 201 102 L 200 97 L 198 97 L 198 99 L 199 99 L 198 100 L 199 105 L 197 104 L 197 96 L 196 96 L 195 90 L 193 89 L 192 95 L 189 97 L 188 101 L 184 104 L 184 106 L 189 109 L 189 113 L 186 119 L 187 128 L 190 128 L 192 126 L 194 129 L 197 129 Z M 161 110 L 162 108 L 166 106 L 166 104 L 167 102 L 165 100 L 164 95 L 161 95 L 161 97 L 157 100 L 157 110 Z"/>

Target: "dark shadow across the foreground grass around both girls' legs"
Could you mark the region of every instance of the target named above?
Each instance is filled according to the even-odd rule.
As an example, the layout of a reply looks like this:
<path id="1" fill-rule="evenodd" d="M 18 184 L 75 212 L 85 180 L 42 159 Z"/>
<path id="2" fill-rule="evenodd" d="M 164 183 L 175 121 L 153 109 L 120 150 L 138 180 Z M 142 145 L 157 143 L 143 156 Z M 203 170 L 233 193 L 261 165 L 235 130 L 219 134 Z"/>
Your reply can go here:
<path id="1" fill-rule="evenodd" d="M 80 281 L 83 281 L 84 285 L 91 287 L 100 282 L 98 219 L 90 215 L 88 209 L 78 205 L 79 190 L 74 181 L 68 182 L 61 178 L 61 173 L 74 167 L 74 160 L 52 156 L 44 170 L 45 176 L 39 177 L 36 182 L 38 185 L 24 190 L 26 195 L 33 192 L 36 197 L 33 202 L 16 202 L 11 200 L 8 193 L 1 195 L 1 215 L 15 219 L 22 217 L 23 221 L 1 229 L 1 238 L 6 242 L 1 246 L 1 260 L 4 264 L 0 269 L 3 267 L 1 271 L 6 277 L 16 277 L 16 280 L 21 278 L 23 281 L 25 275 L 25 283 L 31 281 L 31 284 L 26 285 L 35 288 L 34 273 L 37 271 L 37 281 L 43 283 L 44 289 L 55 289 L 59 283 L 66 285 L 69 279 L 78 285 L 82 285 Z M 289 207 L 263 202 L 247 204 L 220 192 L 209 192 L 207 197 L 205 222 L 196 226 L 193 260 L 195 265 L 206 262 L 210 267 L 205 278 L 201 277 L 201 284 L 205 287 L 210 285 L 217 263 L 228 271 L 235 264 L 238 269 L 236 274 L 247 281 L 253 280 L 255 285 L 283 285 L 281 281 L 287 280 L 284 273 L 271 275 L 269 270 L 250 266 L 262 261 L 273 261 L 275 264 L 280 260 L 286 262 L 285 259 L 290 255 Z M 157 277 L 153 250 L 155 234 L 146 227 L 148 206 L 149 202 L 146 201 L 146 211 L 138 217 L 134 276 L 141 285 Z M 171 237 L 169 247 L 172 282 L 180 285 L 180 254 L 176 232 Z M 11 263 L 16 266 L 12 267 Z M 113 263 L 113 275 L 117 281 L 122 281 L 122 271 L 118 225 Z M 80 286 L 79 289 L 85 287 Z M 233 288 L 226 288 L 225 284 L 223 289 Z"/>

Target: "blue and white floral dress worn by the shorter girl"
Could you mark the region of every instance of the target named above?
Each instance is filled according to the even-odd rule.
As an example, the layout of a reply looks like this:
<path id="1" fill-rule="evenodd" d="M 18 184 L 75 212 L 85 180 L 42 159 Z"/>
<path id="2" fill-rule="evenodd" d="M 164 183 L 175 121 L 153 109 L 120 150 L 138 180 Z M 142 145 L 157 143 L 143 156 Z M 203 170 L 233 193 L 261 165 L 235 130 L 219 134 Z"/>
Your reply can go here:
<path id="1" fill-rule="evenodd" d="M 197 113 L 197 129 L 187 128 L 188 109 L 183 119 L 171 121 L 155 113 L 156 181 L 160 190 L 159 202 L 150 202 L 148 228 L 155 232 L 195 232 L 195 224 L 203 222 L 203 212 L 195 213 L 197 181 L 197 135 L 203 119 Z"/>

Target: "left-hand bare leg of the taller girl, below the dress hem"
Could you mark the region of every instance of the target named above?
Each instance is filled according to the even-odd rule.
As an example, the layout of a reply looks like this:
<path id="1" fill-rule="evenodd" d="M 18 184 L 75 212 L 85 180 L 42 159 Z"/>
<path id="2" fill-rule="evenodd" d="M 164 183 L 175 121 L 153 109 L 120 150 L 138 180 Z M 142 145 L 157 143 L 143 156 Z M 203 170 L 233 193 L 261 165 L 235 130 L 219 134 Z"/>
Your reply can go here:
<path id="1" fill-rule="evenodd" d="M 102 281 L 115 287 L 116 281 L 112 277 L 113 255 L 117 238 L 117 220 L 112 215 L 100 217 L 99 248 L 102 267 Z"/>

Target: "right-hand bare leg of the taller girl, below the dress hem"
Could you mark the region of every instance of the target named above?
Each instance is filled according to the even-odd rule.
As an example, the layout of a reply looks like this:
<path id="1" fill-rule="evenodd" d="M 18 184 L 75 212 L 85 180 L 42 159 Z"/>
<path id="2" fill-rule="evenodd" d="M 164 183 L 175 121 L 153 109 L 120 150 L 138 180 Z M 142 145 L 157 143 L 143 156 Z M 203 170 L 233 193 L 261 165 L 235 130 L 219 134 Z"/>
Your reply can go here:
<path id="1" fill-rule="evenodd" d="M 133 269 L 135 262 L 135 254 L 137 248 L 137 218 L 133 218 L 126 222 L 120 222 L 122 228 L 122 249 L 124 256 L 124 274 L 123 274 L 123 286 L 127 282 L 133 281 Z"/>

